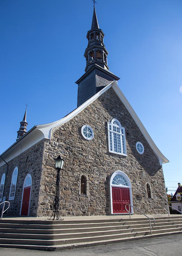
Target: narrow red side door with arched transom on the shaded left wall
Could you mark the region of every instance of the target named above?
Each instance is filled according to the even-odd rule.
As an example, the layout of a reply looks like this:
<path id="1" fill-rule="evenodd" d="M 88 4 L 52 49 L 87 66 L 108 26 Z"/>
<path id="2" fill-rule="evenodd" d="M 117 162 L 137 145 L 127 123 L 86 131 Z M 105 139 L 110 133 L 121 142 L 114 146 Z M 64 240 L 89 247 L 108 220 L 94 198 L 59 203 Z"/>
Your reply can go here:
<path id="1" fill-rule="evenodd" d="M 31 174 L 27 174 L 24 180 L 24 185 L 23 185 L 20 215 L 27 216 L 29 214 L 31 186 L 32 186 L 32 177 L 31 177 Z"/>

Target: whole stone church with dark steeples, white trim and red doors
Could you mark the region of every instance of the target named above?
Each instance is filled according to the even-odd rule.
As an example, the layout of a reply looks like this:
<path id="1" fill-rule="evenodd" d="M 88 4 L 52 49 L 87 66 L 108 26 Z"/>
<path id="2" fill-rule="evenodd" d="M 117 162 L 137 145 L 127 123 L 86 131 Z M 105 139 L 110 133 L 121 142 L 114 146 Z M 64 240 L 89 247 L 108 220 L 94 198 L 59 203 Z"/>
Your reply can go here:
<path id="1" fill-rule="evenodd" d="M 145 214 L 165 213 L 168 160 L 109 71 L 95 6 L 87 39 L 77 108 L 28 132 L 25 111 L 17 141 L 0 156 L 0 202 L 10 202 L 8 214 L 52 214 L 59 155 L 62 216 L 128 214 L 128 203 Z"/>

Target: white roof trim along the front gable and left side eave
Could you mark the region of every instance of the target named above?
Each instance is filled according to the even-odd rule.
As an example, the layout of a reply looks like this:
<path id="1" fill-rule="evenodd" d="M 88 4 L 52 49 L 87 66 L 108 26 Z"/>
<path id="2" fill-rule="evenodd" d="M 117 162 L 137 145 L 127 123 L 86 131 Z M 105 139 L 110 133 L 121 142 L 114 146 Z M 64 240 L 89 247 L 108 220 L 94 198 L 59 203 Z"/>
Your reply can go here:
<path id="1" fill-rule="evenodd" d="M 123 102 L 123 104 L 125 105 L 125 107 L 129 111 L 129 113 L 133 117 L 134 121 L 138 125 L 139 129 L 143 133 L 143 135 L 146 138 L 147 142 L 149 143 L 150 147 L 153 149 L 153 151 L 157 155 L 157 157 L 159 159 L 159 162 L 160 162 L 160 165 L 162 165 L 162 163 L 168 163 L 169 160 L 167 160 L 167 158 L 165 158 L 165 156 L 160 152 L 158 147 L 155 145 L 155 143 L 153 142 L 152 138 L 150 137 L 150 135 L 148 134 L 147 130 L 143 126 L 143 124 L 140 121 L 140 119 L 138 118 L 137 114 L 135 113 L 134 109 L 129 104 L 128 100 L 126 99 L 126 97 L 124 96 L 124 94 L 122 93 L 120 88 L 118 87 L 118 84 L 117 84 L 116 81 L 113 81 L 110 84 L 108 84 L 101 91 L 99 91 L 94 96 L 92 96 L 90 99 L 88 99 L 86 102 L 84 102 L 80 107 L 76 108 L 74 111 L 72 111 L 70 114 L 68 114 L 67 116 L 63 117 L 62 119 L 60 119 L 58 121 L 55 121 L 55 122 L 52 122 L 52 123 L 46 123 L 46 124 L 43 124 L 43 125 L 37 125 L 36 128 L 33 131 L 30 130 L 29 131 L 30 133 L 28 132 L 26 134 L 26 136 L 22 137 L 22 139 L 20 141 L 21 144 L 24 144 L 23 142 L 26 141 L 26 143 L 25 143 L 26 146 L 24 146 L 24 148 L 22 148 L 22 145 L 21 145 L 21 152 L 23 152 L 26 149 L 30 148 L 32 145 L 35 145 L 36 143 L 41 141 L 43 138 L 51 139 L 51 131 L 52 131 L 53 128 L 55 128 L 55 127 L 57 127 L 59 125 L 62 125 L 64 123 L 66 123 L 67 121 L 71 120 L 74 116 L 76 116 L 78 113 L 80 113 L 83 109 L 85 109 L 88 105 L 90 105 L 92 102 L 94 102 L 94 100 L 96 100 L 100 95 L 102 95 L 105 91 L 107 91 L 111 87 L 113 88 L 115 93 L 118 95 L 120 100 Z M 36 131 L 37 132 L 39 131 L 39 133 L 37 133 Z M 32 144 L 31 135 L 33 135 L 33 134 L 36 134 L 36 139 L 33 141 L 33 144 Z M 19 143 L 17 142 L 16 145 L 18 146 L 18 144 Z M 12 158 L 14 158 L 15 154 L 13 154 L 13 157 L 10 156 L 12 151 L 14 151 L 14 153 L 15 153 L 15 150 L 13 150 L 13 145 L 2 154 L 3 158 L 4 157 L 6 158 L 6 156 L 7 156 L 7 160 L 8 161 L 10 161 Z M 18 154 L 20 154 L 20 152 Z M 4 164 L 4 162 L 2 164 Z M 2 165 L 2 164 L 0 163 L 0 165 Z"/>

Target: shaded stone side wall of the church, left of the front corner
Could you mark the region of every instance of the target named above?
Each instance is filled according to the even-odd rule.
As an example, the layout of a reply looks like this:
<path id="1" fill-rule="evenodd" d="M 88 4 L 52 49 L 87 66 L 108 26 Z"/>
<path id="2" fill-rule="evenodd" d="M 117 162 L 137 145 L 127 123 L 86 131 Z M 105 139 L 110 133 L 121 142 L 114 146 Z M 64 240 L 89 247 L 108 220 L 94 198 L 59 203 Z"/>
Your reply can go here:
<path id="1" fill-rule="evenodd" d="M 15 199 L 10 200 L 10 208 L 8 209 L 8 214 L 20 214 L 23 184 L 26 175 L 30 173 L 32 176 L 32 188 L 29 205 L 29 216 L 37 215 L 43 146 L 44 141 L 41 141 L 8 162 L 8 171 L 6 183 L 4 186 L 4 196 L 6 196 L 6 201 L 9 201 L 11 177 L 13 170 L 16 166 L 18 167 Z M 0 167 L 0 179 L 3 173 L 6 174 L 6 166 L 7 165 L 4 164 Z"/>

